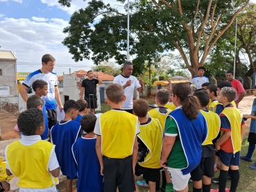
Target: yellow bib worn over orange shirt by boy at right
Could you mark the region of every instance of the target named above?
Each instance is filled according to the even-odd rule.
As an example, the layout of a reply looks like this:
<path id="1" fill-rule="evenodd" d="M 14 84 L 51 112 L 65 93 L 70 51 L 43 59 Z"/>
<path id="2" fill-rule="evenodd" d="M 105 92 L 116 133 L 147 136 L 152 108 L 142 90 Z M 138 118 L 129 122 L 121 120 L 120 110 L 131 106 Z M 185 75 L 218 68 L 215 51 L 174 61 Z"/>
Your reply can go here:
<path id="1" fill-rule="evenodd" d="M 237 107 L 225 107 L 222 114 L 225 114 L 230 121 L 233 150 L 234 153 L 238 152 L 241 150 L 241 114 Z"/>

